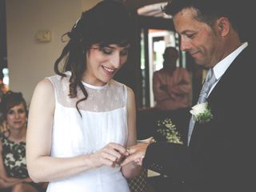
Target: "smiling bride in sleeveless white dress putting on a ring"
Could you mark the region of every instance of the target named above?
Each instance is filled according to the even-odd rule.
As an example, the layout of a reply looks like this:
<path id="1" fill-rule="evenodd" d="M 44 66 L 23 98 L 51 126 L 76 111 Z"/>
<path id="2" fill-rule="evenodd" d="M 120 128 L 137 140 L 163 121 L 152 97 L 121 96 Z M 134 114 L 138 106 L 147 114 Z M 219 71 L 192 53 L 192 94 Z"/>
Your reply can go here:
<path id="1" fill-rule="evenodd" d="M 126 178 L 140 174 L 134 162 L 119 166 L 136 144 L 135 102 L 133 90 L 112 79 L 127 61 L 131 26 L 121 3 L 99 2 L 66 33 L 56 75 L 36 86 L 27 167 L 34 182 L 50 182 L 48 192 L 128 192 Z"/>

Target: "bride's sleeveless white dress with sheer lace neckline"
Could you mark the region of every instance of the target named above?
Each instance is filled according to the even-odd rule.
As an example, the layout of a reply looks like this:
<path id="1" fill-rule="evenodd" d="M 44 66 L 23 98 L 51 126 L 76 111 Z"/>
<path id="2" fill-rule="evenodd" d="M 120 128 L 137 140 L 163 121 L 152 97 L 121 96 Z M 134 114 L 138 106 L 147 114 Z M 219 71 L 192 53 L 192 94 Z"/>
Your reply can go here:
<path id="1" fill-rule="evenodd" d="M 111 80 L 105 86 L 91 86 L 83 82 L 88 92 L 86 101 L 78 107 L 75 103 L 83 98 L 78 89 L 78 98 L 69 98 L 70 72 L 67 77 L 54 75 L 48 79 L 55 91 L 54 126 L 52 132 L 51 156 L 70 158 L 81 154 L 92 154 L 109 142 L 126 146 L 127 88 Z M 86 170 L 70 178 L 50 182 L 47 192 L 129 192 L 126 178 L 120 166 L 101 166 Z"/>

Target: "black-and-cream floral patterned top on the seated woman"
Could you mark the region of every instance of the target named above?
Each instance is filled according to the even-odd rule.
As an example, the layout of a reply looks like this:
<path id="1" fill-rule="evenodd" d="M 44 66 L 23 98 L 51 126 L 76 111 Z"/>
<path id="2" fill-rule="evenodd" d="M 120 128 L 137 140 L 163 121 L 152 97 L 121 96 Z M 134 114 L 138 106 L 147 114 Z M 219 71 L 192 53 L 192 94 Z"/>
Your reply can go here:
<path id="1" fill-rule="evenodd" d="M 27 178 L 26 142 L 12 142 L 1 133 L 2 158 L 6 173 L 13 178 Z"/>

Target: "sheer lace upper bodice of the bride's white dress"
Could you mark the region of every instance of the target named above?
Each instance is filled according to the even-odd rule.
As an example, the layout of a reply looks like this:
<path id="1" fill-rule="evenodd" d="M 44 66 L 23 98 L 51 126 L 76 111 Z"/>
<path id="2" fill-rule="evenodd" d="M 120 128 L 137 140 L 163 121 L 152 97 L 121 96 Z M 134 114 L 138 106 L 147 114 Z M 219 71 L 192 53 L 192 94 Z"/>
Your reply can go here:
<path id="1" fill-rule="evenodd" d="M 50 78 L 50 81 L 53 82 L 54 87 L 62 87 L 62 89 L 55 89 L 58 103 L 66 107 L 75 107 L 78 98 L 84 98 L 84 95 L 82 90 L 78 88 L 78 98 L 68 96 L 70 72 L 66 72 L 66 74 L 66 78 L 55 76 L 55 78 Z M 80 110 L 105 112 L 126 106 L 126 86 L 123 84 L 114 80 L 111 80 L 105 86 L 91 86 L 86 82 L 82 82 L 82 84 L 86 87 L 88 98 L 78 104 Z"/>

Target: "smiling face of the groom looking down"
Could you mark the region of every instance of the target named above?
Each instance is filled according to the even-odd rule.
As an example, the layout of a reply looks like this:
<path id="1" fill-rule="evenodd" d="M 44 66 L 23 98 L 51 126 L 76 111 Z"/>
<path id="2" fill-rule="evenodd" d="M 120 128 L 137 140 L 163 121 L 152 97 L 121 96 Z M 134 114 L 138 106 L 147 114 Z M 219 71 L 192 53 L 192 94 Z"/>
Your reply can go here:
<path id="1" fill-rule="evenodd" d="M 197 11 L 186 8 L 174 15 L 174 27 L 181 35 L 181 50 L 190 53 L 198 65 L 213 67 L 219 62 L 222 37 L 215 24 L 199 21 Z"/>

